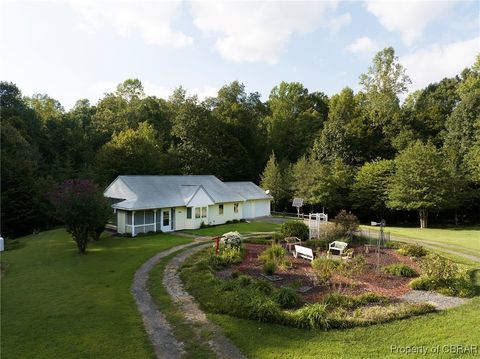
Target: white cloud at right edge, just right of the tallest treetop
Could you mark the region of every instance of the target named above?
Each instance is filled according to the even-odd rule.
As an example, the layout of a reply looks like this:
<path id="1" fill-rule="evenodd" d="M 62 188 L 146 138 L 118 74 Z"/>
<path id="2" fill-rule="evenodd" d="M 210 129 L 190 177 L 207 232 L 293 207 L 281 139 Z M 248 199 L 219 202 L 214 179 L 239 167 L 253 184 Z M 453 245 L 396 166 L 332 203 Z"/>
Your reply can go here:
<path id="1" fill-rule="evenodd" d="M 412 79 L 411 91 L 423 88 L 445 77 L 458 75 L 465 67 L 475 62 L 480 52 L 480 37 L 453 42 L 446 45 L 432 45 L 400 57 Z"/>

